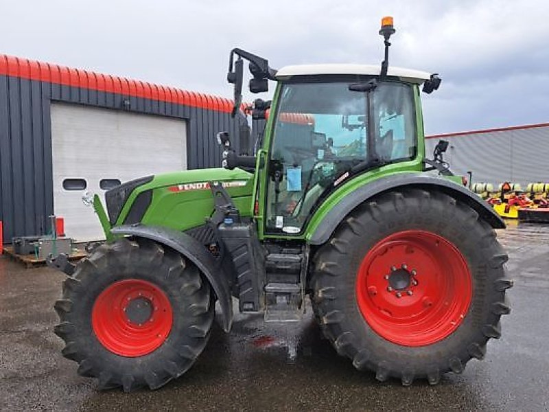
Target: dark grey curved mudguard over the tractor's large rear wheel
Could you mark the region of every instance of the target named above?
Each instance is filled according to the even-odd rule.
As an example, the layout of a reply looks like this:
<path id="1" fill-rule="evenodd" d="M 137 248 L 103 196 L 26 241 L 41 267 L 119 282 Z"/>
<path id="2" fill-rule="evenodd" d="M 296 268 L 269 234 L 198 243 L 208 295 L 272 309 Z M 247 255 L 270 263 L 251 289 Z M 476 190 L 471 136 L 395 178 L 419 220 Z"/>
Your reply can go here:
<path id="1" fill-rule="evenodd" d="M 382 177 L 368 183 L 357 190 L 354 190 L 337 203 L 336 207 L 332 207 L 325 218 L 320 222 L 320 225 L 312 233 L 309 239 L 310 244 L 323 244 L 330 238 L 331 233 L 336 230 L 339 223 L 360 203 L 369 198 L 388 192 L 389 190 L 401 190 L 405 187 L 416 187 L 423 190 L 436 190 L 452 196 L 458 201 L 461 201 L 472 209 L 474 209 L 484 220 L 486 220 L 494 229 L 504 229 L 505 223 L 498 216 L 492 207 L 476 196 L 474 192 L 467 187 L 458 185 L 448 179 L 441 179 L 430 176 L 425 173 L 406 173 L 394 174 L 391 176 Z"/>

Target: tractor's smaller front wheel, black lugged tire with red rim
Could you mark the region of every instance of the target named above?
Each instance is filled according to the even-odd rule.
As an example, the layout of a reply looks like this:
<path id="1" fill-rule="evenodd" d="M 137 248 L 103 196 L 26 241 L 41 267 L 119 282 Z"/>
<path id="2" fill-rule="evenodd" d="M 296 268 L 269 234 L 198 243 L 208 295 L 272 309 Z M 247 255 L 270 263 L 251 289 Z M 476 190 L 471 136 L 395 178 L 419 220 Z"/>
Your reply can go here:
<path id="1" fill-rule="evenodd" d="M 99 389 L 158 389 L 191 367 L 213 321 L 210 286 L 172 249 L 145 239 L 97 248 L 63 283 L 63 356 Z"/>

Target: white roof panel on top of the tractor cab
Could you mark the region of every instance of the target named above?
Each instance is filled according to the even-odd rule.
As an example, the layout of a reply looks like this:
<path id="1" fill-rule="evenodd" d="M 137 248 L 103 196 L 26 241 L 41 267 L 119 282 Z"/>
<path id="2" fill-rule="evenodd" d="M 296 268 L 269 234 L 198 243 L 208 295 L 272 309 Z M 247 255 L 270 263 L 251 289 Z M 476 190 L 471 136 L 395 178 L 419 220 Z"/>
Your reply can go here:
<path id="1" fill-rule="evenodd" d="M 316 74 L 362 74 L 379 76 L 381 65 L 294 65 L 285 66 L 277 71 L 277 80 L 288 80 L 293 76 L 312 76 Z M 431 78 L 427 71 L 403 69 L 389 65 L 388 76 L 395 76 L 406 82 L 421 84 Z"/>

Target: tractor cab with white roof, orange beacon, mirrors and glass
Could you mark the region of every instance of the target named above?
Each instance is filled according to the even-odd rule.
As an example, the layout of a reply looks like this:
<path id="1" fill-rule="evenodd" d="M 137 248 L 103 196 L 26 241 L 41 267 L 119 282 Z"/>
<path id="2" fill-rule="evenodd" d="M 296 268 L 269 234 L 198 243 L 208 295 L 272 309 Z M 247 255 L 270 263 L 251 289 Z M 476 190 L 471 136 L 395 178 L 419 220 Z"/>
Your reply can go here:
<path id="1" fill-rule="evenodd" d="M 266 133 L 256 157 L 237 156 L 224 134 L 223 165 L 255 168 L 259 233 L 300 236 L 325 198 L 342 183 L 371 171 L 425 170 L 419 87 L 439 88 L 436 74 L 388 66 L 391 18 L 382 21 L 385 58 L 382 65 L 294 65 L 272 69 L 268 60 L 242 49 L 229 56 L 227 79 L 234 84 L 233 115 L 242 104 L 243 60 L 249 60 L 252 93 L 268 91 Z M 235 58 L 236 56 L 236 58 Z M 265 102 L 252 108 L 266 117 Z M 426 160 L 434 168 L 443 162 Z M 393 165 L 393 167 L 387 167 Z M 433 166 L 430 168 L 433 168 Z M 447 173 L 445 173 L 447 174 Z"/>

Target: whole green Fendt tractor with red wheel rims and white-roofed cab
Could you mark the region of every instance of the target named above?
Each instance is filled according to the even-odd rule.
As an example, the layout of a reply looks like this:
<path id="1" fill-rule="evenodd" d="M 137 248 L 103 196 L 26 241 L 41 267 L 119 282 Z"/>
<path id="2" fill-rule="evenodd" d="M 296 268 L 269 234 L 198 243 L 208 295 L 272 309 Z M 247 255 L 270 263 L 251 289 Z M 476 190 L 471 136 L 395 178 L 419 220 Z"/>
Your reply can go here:
<path id="1" fill-rule="evenodd" d="M 436 74 L 388 65 L 294 65 L 233 49 L 233 115 L 244 60 L 255 118 L 254 155 L 217 138 L 223 168 L 146 176 L 91 200 L 106 242 L 76 266 L 55 308 L 62 354 L 99 389 L 157 389 L 193 365 L 215 317 L 303 318 L 307 297 L 326 339 L 384 381 L 432 385 L 461 373 L 500 337 L 510 311 L 504 222 L 425 156 L 420 89 Z M 233 305 L 234 302 L 234 305 Z M 310 306 L 309 306 L 310 307 Z"/>

